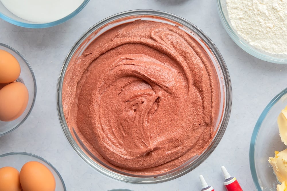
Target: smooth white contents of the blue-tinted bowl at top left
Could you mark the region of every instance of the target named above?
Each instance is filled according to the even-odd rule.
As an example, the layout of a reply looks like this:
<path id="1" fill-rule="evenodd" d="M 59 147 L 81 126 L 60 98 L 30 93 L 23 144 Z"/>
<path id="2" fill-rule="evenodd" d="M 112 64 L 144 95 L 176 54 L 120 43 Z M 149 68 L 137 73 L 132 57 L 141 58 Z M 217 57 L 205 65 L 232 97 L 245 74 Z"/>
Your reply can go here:
<path id="1" fill-rule="evenodd" d="M 0 0 L 14 15 L 36 23 L 57 21 L 77 9 L 84 0 Z"/>

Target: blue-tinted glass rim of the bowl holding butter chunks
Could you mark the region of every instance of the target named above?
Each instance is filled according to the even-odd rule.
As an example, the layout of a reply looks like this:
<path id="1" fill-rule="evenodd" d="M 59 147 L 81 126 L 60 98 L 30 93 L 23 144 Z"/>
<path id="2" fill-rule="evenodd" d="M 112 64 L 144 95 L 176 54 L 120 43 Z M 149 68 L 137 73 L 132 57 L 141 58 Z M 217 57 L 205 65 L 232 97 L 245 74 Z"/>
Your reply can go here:
<path id="1" fill-rule="evenodd" d="M 287 94 L 287 88 L 282 90 L 280 93 L 278 93 L 265 107 L 265 109 L 262 111 L 261 115 L 259 116 L 255 127 L 253 129 L 253 133 L 251 135 L 251 141 L 250 141 L 250 147 L 249 147 L 249 164 L 250 164 L 250 171 L 253 178 L 253 182 L 255 184 L 255 187 L 257 190 L 262 191 L 261 186 L 259 185 L 259 181 L 257 178 L 256 168 L 255 168 L 255 145 L 256 145 L 256 139 L 258 132 L 260 130 L 260 127 L 269 113 L 270 109 L 285 95 Z"/>

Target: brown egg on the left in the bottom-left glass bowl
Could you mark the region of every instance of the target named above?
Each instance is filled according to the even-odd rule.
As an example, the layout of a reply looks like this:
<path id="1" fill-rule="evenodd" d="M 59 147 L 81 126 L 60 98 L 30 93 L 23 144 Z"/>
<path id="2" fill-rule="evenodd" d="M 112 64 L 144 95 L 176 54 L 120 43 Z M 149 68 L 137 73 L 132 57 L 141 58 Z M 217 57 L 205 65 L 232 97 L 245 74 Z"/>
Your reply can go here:
<path id="1" fill-rule="evenodd" d="M 19 171 L 13 167 L 0 168 L 0 191 L 20 191 Z"/>

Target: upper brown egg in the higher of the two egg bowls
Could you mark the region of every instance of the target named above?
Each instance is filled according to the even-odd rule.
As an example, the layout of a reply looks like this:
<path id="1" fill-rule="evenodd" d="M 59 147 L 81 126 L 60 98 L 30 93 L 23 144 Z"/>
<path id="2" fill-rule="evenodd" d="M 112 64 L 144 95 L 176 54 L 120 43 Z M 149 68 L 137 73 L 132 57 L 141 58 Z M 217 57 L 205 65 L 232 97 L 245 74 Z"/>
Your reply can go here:
<path id="1" fill-rule="evenodd" d="M 5 50 L 0 50 L 0 83 L 15 81 L 21 73 L 17 59 Z"/>

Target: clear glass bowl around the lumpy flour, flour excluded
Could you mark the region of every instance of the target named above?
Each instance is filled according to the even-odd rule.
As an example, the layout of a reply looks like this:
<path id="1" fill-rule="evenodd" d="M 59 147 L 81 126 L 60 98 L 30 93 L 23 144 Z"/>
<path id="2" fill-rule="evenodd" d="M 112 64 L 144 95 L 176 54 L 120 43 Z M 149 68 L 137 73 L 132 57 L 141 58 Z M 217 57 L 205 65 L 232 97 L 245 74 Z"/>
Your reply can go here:
<path id="1" fill-rule="evenodd" d="M 259 50 L 250 45 L 236 32 L 236 30 L 232 27 L 231 21 L 228 16 L 228 11 L 226 8 L 226 0 L 217 0 L 217 9 L 227 34 L 240 48 L 242 48 L 247 53 L 261 60 L 277 64 L 287 64 L 287 55 L 271 54 L 263 50 Z"/>

